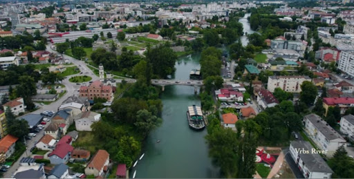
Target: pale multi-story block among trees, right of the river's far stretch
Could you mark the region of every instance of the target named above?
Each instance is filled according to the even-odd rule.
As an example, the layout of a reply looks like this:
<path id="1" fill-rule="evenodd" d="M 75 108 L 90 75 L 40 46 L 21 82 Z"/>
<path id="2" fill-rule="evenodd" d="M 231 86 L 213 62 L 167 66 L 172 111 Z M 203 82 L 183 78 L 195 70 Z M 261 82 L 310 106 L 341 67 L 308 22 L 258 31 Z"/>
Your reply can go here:
<path id="1" fill-rule="evenodd" d="M 286 40 L 284 37 L 277 37 L 276 39 L 270 42 L 270 48 L 272 49 L 290 49 L 304 51 L 306 50 L 307 42 L 301 40 Z"/>

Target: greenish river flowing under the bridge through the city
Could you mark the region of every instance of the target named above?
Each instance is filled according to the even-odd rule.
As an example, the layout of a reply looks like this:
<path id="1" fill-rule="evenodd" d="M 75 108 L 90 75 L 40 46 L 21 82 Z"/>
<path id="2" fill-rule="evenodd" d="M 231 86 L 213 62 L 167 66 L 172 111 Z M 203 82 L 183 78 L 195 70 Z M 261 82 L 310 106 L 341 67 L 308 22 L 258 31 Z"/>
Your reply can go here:
<path id="1" fill-rule="evenodd" d="M 250 24 L 245 17 L 243 31 L 248 34 Z M 243 46 L 248 44 L 247 37 L 241 37 Z M 189 79 L 189 73 L 194 68 L 200 68 L 200 55 L 182 57 L 176 62 L 174 79 Z M 193 131 L 187 123 L 187 106 L 201 105 L 198 94 L 194 94 L 192 86 L 165 86 L 160 96 L 163 104 L 162 124 L 152 131 L 147 138 L 142 153 L 145 156 L 133 167 L 129 176 L 132 178 L 219 178 L 219 171 L 208 157 L 208 147 L 205 143 L 207 130 Z M 156 142 L 160 140 L 160 142 Z"/>

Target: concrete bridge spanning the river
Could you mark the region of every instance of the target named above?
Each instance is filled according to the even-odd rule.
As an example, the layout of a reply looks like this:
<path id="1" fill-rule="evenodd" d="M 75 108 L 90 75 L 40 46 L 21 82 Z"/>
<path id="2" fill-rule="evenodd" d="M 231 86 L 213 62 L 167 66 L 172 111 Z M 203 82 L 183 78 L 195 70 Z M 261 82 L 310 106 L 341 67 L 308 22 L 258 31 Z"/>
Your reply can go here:
<path id="1" fill-rule="evenodd" d="M 178 79 L 151 79 L 151 84 L 156 86 L 162 86 L 162 91 L 165 91 L 167 85 L 183 85 L 194 86 L 194 93 L 197 92 L 198 86 L 203 86 L 202 80 L 178 80 Z"/>

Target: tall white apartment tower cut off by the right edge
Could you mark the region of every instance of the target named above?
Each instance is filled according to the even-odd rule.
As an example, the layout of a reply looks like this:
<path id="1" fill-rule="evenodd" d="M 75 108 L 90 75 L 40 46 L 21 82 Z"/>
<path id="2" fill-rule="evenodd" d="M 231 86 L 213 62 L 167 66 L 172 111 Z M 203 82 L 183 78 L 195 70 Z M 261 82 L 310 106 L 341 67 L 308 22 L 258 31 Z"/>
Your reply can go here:
<path id="1" fill-rule="evenodd" d="M 354 51 L 342 50 L 339 55 L 338 69 L 354 77 Z"/>

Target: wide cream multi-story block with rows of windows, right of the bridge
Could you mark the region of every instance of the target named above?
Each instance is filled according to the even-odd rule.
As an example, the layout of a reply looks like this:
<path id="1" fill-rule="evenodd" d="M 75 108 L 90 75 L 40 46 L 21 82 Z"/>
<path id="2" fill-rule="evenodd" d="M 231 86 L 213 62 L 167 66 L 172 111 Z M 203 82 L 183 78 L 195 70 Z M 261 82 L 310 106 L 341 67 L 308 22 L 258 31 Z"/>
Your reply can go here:
<path id="1" fill-rule="evenodd" d="M 281 88 L 283 91 L 300 93 L 301 84 L 305 81 L 311 82 L 308 76 L 270 76 L 268 77 L 268 91 L 274 92 L 275 88 Z"/>

